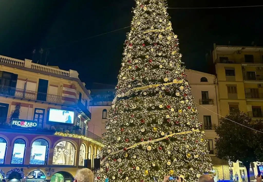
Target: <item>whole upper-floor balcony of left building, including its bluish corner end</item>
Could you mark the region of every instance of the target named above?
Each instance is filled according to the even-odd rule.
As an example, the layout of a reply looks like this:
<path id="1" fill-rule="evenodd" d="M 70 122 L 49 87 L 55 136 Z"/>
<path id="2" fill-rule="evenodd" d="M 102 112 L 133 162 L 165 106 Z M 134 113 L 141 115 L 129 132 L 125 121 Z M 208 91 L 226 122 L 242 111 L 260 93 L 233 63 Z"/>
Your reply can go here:
<path id="1" fill-rule="evenodd" d="M 64 97 L 64 96 L 35 92 L 31 90 L 24 90 L 15 87 L 8 87 L 4 85 L 0 85 L 0 96 L 11 97 L 13 99 L 19 99 L 19 100 L 53 104 L 53 105 L 72 106 L 83 116 L 84 119 L 86 120 L 91 119 L 91 113 L 81 102 L 79 102 L 78 99 L 72 100 L 72 98 L 69 99 L 68 97 Z"/>

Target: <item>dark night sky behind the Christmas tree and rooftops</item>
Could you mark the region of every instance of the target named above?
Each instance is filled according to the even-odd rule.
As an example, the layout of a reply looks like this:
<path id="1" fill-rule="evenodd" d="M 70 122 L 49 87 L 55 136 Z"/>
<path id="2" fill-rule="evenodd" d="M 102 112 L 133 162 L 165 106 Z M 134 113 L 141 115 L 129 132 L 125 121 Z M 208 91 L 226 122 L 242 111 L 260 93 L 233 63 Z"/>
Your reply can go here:
<path id="1" fill-rule="evenodd" d="M 251 6 L 241 1 L 168 0 L 169 7 Z M 134 0 L 0 0 L 0 55 L 77 70 L 92 82 L 116 84 Z M 208 71 L 206 53 L 217 45 L 263 46 L 263 7 L 169 9 L 186 68 Z M 80 41 L 79 41 L 80 40 Z M 229 44 L 230 42 L 230 44 Z"/>

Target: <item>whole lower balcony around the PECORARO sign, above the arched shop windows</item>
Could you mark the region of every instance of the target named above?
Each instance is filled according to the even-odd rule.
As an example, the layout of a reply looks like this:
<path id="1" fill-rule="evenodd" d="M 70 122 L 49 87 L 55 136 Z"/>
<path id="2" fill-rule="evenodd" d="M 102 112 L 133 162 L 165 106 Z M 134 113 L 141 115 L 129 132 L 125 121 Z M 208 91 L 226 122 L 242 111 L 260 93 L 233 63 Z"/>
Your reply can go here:
<path id="1" fill-rule="evenodd" d="M 76 127 L 72 125 L 60 125 L 60 124 L 47 124 L 46 122 L 38 123 L 36 130 L 24 130 L 24 129 L 14 129 L 11 128 L 12 119 L 10 118 L 0 118 L 0 131 L 13 131 L 17 130 L 21 133 L 42 133 L 42 134 L 51 134 L 53 135 L 55 132 L 69 133 L 69 134 L 77 134 L 83 135 L 88 138 L 91 138 L 95 141 L 101 141 L 102 138 L 94 133 L 88 131 L 88 129 L 83 129 L 82 127 Z"/>

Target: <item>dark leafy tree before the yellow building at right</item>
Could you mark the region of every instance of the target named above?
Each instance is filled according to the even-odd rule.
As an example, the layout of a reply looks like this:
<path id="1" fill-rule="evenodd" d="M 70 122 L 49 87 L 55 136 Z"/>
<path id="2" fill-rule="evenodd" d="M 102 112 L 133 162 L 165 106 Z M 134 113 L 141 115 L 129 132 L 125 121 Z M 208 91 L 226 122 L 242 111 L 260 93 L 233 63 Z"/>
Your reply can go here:
<path id="1" fill-rule="evenodd" d="M 252 120 L 246 113 L 239 110 L 230 111 L 225 117 L 227 119 L 221 118 L 220 125 L 215 130 L 218 135 L 215 144 L 216 156 L 232 162 L 241 161 L 246 167 L 247 178 L 250 182 L 250 164 L 259 161 L 255 151 L 259 151 L 257 138 L 260 133 L 247 127 L 253 129 L 263 128 L 262 121 Z"/>

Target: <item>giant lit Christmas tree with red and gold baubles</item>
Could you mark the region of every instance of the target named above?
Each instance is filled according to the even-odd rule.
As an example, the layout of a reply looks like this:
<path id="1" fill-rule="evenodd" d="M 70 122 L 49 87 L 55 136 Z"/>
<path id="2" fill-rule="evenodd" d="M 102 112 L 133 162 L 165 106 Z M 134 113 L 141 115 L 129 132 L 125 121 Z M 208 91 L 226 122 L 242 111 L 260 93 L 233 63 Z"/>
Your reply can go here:
<path id="1" fill-rule="evenodd" d="M 133 12 L 96 178 L 196 181 L 211 163 L 167 2 L 140 0 Z"/>

